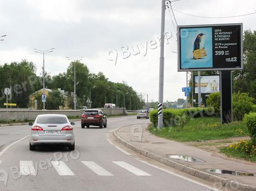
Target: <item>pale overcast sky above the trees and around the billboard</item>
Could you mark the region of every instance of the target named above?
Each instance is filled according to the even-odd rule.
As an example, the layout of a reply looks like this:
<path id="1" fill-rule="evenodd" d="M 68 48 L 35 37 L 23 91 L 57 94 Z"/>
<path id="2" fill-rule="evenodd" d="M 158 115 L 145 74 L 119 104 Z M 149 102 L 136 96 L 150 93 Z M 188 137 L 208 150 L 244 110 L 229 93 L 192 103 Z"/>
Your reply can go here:
<path id="1" fill-rule="evenodd" d="M 174 9 L 206 17 L 226 17 L 255 12 L 255 0 L 182 0 Z M 174 11 L 178 25 L 243 23 L 255 30 L 256 14 L 228 19 L 190 17 Z M 66 56 L 78 58 L 90 72 L 104 72 L 113 82 L 125 81 L 138 93 L 158 100 L 161 1 L 158 0 L 8 0 L 0 5 L 0 64 L 27 59 L 42 72 L 42 55 L 34 48 L 54 52 L 45 56 L 51 75 L 66 71 Z M 186 72 L 177 72 L 177 41 L 166 10 L 164 100 L 185 98 Z M 171 38 L 171 34 L 173 34 Z M 150 42 L 152 45 L 150 46 Z M 138 53 L 138 47 L 140 53 Z M 146 49 L 147 47 L 147 49 Z M 134 54 L 121 53 L 121 49 Z M 61 88 L 61 87 L 60 87 Z"/>

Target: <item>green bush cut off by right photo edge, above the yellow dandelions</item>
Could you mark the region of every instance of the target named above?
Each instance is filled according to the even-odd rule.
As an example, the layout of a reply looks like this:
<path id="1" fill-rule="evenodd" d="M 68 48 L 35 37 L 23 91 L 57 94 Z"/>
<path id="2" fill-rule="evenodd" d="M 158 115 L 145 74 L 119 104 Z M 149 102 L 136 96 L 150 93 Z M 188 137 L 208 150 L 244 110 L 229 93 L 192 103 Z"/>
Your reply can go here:
<path id="1" fill-rule="evenodd" d="M 244 115 L 244 123 L 246 124 L 249 135 L 252 138 L 253 145 L 256 146 L 256 113 L 249 113 Z"/>

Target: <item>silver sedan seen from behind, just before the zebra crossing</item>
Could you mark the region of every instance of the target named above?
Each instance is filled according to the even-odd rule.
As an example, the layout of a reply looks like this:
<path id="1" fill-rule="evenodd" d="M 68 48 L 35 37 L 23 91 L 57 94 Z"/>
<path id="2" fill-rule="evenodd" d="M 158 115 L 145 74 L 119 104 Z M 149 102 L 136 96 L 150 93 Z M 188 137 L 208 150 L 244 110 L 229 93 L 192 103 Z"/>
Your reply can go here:
<path id="1" fill-rule="evenodd" d="M 37 145 L 64 145 L 70 151 L 75 149 L 75 135 L 73 126 L 66 115 L 43 114 L 38 115 L 30 131 L 29 150 L 35 150 Z"/>

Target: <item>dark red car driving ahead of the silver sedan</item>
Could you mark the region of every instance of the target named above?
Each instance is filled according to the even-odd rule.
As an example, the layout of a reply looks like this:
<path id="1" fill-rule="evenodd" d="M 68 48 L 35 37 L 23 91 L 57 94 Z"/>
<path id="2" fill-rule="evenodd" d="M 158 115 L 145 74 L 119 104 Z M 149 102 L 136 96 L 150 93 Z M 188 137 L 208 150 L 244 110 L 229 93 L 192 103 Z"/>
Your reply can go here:
<path id="1" fill-rule="evenodd" d="M 86 109 L 81 117 L 81 128 L 89 128 L 90 125 L 106 128 L 106 114 L 100 109 Z"/>

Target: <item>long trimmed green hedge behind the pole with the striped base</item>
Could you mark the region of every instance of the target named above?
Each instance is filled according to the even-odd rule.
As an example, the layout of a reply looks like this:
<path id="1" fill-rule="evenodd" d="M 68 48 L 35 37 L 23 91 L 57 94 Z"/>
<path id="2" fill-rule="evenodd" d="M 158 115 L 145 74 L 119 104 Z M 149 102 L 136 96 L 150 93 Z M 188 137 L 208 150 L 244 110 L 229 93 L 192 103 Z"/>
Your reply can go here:
<path id="1" fill-rule="evenodd" d="M 184 125 L 189 118 L 212 116 L 213 114 L 213 108 L 163 109 L 163 125 Z M 150 112 L 150 121 L 153 126 L 157 126 L 157 109 Z"/>

